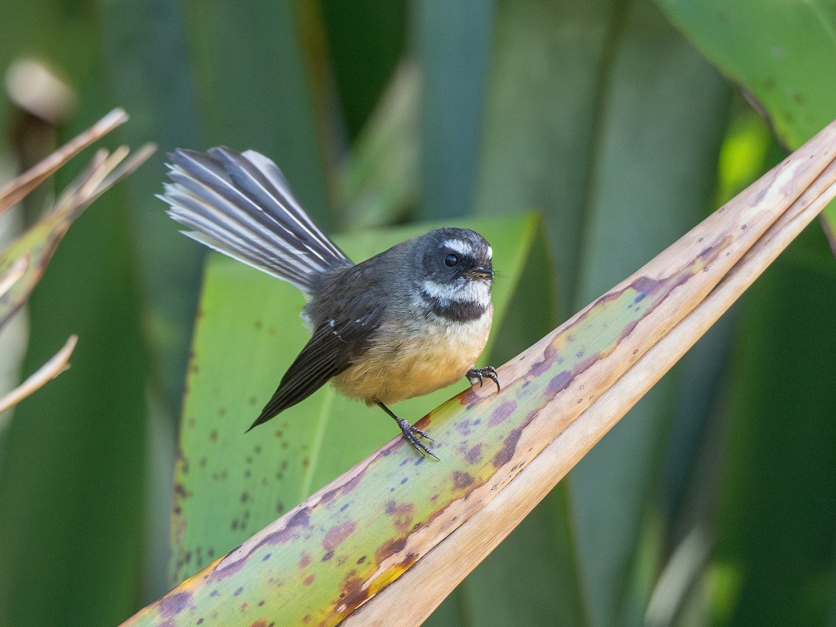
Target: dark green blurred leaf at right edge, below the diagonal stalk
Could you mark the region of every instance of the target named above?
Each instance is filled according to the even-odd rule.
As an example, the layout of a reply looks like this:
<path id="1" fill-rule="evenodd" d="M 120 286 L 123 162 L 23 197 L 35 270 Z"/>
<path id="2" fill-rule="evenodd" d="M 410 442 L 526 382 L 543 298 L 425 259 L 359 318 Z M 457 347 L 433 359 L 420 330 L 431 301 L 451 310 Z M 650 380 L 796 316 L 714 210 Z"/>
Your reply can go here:
<path id="1" fill-rule="evenodd" d="M 741 303 L 714 555 L 737 586 L 715 599 L 718 625 L 833 611 L 836 268 L 823 244 L 808 228 Z"/>

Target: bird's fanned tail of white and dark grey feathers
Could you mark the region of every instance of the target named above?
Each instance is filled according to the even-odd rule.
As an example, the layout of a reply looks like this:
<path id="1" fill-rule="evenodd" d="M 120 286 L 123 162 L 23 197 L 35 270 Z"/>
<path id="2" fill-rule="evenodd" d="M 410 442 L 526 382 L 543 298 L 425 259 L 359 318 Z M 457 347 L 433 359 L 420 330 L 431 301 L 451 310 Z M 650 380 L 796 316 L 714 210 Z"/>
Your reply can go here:
<path id="1" fill-rule="evenodd" d="M 168 214 L 194 229 L 183 233 L 293 283 L 310 295 L 318 278 L 353 265 L 293 196 L 276 164 L 253 150 L 178 149 L 161 200 Z"/>

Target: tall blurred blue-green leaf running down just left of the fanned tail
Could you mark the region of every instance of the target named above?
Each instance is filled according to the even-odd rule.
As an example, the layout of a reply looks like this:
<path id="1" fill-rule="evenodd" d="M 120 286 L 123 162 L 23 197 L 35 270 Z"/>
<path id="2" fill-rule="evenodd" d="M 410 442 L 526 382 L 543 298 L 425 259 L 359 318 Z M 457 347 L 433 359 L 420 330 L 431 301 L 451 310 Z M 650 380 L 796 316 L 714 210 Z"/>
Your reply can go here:
<path id="1" fill-rule="evenodd" d="M 129 144 L 154 138 L 159 145 L 149 163 L 125 181 L 124 189 L 142 288 L 142 330 L 150 348 L 142 594 L 150 599 L 164 593 L 168 583 L 176 424 L 205 256 L 201 247 L 184 241 L 154 195 L 161 191 L 166 155 L 181 146 L 202 146 L 204 140 L 183 3 L 99 0 L 98 4 L 106 64 L 101 79 L 117 102 L 130 104 L 130 124 L 120 135 Z M 233 140 L 230 133 L 226 141 Z"/>

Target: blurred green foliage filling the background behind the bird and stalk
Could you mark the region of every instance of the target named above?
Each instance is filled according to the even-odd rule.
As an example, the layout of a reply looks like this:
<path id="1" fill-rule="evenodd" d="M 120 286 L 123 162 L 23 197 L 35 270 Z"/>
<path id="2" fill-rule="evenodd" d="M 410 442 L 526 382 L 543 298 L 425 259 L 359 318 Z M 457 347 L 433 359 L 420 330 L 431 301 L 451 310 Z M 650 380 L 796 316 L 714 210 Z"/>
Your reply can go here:
<path id="1" fill-rule="evenodd" d="M 794 147 L 836 117 L 833 0 L 0 12 L 0 73 L 38 59 L 77 102 L 56 125 L 4 90 L 0 176 L 117 104 L 121 139 L 161 145 L 70 230 L 30 303 L 23 370 L 80 339 L 0 434 L 3 625 L 115 624 L 171 583 L 202 251 L 153 197 L 167 150 L 261 150 L 331 231 L 538 210 L 559 316 L 525 324 L 543 329 L 777 161 L 770 124 Z M 428 624 L 836 624 L 834 279 L 812 227 Z"/>

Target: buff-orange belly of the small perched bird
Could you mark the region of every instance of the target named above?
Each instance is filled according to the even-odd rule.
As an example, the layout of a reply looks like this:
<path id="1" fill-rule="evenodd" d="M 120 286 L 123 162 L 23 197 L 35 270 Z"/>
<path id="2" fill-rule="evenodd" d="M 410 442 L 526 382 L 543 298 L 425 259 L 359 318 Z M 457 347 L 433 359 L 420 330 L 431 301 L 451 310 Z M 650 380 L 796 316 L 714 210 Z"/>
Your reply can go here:
<path id="1" fill-rule="evenodd" d="M 389 405 L 451 385 L 482 354 L 491 319 L 492 308 L 469 323 L 450 323 L 443 329 L 428 324 L 405 340 L 396 340 L 392 329 L 380 329 L 375 346 L 334 377 L 334 386 L 352 398 Z M 398 329 L 397 336 L 403 333 Z"/>

